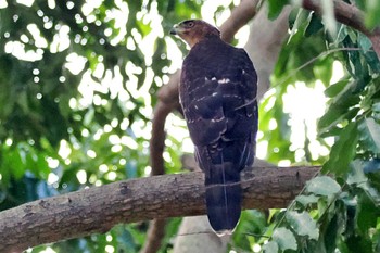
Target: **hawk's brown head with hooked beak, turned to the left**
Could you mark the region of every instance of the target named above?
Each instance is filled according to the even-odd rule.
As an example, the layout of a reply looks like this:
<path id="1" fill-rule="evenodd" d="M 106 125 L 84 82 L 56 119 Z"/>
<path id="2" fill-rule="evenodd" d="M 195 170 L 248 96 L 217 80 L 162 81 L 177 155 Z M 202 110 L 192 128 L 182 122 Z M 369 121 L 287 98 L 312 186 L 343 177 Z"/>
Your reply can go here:
<path id="1" fill-rule="evenodd" d="M 170 29 L 170 35 L 178 35 L 190 48 L 199 41 L 213 36 L 220 36 L 220 31 L 201 20 L 182 21 Z"/>

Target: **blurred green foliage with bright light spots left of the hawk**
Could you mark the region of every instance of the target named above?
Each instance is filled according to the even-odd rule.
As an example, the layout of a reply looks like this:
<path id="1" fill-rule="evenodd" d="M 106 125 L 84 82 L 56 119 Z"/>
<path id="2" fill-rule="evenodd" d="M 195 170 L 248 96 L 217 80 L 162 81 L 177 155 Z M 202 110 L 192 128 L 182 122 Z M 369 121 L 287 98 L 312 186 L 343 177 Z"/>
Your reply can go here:
<path id="1" fill-rule="evenodd" d="M 0 208 L 145 176 L 155 93 L 178 67 L 167 52 L 175 42 L 166 35 L 174 23 L 200 15 L 201 5 L 177 0 L 1 4 Z M 181 167 L 180 146 L 172 140 L 168 173 Z M 170 224 L 168 237 L 178 220 Z M 52 248 L 137 252 L 145 232 L 147 223 L 128 225 Z"/>

